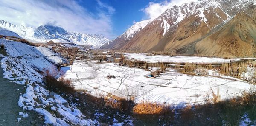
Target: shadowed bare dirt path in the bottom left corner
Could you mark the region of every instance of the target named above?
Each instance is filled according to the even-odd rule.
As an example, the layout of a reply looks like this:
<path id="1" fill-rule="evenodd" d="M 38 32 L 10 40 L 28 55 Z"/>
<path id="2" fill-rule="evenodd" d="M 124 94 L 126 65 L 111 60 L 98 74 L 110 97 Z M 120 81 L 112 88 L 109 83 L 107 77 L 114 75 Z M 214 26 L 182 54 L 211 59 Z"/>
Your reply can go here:
<path id="1" fill-rule="evenodd" d="M 44 120 L 40 115 L 34 111 L 23 111 L 18 106 L 19 96 L 25 91 L 26 86 L 3 78 L 3 69 L 0 67 L 0 126 L 43 126 Z M 29 117 L 23 118 L 19 112 L 27 113 Z M 19 123 L 18 117 L 21 118 Z"/>

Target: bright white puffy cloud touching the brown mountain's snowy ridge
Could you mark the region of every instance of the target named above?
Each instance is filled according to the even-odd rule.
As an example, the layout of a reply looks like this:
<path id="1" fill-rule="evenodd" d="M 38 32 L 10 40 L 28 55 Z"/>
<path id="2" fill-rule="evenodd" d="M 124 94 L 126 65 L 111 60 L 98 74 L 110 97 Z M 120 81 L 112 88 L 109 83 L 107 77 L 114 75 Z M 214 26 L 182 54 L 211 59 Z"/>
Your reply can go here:
<path id="1" fill-rule="evenodd" d="M 146 16 L 150 19 L 154 19 L 158 16 L 160 16 L 166 9 L 172 8 L 172 6 L 179 6 L 182 5 L 183 3 L 189 3 L 193 1 L 198 1 L 198 0 L 171 0 L 171 1 L 163 1 L 160 3 L 154 3 L 154 2 L 149 2 L 148 6 L 142 9 L 142 11 L 146 14 Z"/>

